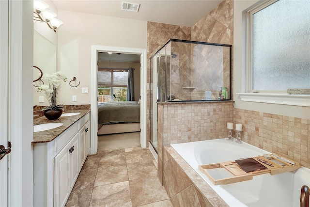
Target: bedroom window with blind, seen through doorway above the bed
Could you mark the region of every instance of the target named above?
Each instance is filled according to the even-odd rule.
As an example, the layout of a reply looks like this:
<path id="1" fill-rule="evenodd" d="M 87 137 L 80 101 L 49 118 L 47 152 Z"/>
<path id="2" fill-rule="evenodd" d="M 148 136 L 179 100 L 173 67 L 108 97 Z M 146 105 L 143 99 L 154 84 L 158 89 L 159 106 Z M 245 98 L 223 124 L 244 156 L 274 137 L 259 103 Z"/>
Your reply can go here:
<path id="1" fill-rule="evenodd" d="M 98 69 L 98 102 L 126 101 L 128 70 Z"/>

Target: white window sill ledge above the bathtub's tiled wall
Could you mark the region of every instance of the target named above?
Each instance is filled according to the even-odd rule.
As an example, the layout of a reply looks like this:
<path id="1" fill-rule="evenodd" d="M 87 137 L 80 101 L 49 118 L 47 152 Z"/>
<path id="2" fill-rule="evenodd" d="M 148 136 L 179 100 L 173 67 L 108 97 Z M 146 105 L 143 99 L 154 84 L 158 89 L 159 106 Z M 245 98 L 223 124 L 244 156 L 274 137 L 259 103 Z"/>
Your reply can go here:
<path id="1" fill-rule="evenodd" d="M 237 93 L 237 95 L 242 101 L 310 107 L 310 95 L 267 93 Z"/>

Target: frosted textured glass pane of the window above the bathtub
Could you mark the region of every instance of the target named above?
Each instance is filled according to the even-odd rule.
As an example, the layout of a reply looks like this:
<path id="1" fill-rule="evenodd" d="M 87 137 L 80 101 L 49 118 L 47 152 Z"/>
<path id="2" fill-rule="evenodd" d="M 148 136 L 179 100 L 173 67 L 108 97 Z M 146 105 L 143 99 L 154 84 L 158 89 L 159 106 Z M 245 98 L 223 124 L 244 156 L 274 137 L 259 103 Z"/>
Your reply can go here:
<path id="1" fill-rule="evenodd" d="M 252 90 L 310 88 L 310 0 L 279 0 L 252 16 Z"/>

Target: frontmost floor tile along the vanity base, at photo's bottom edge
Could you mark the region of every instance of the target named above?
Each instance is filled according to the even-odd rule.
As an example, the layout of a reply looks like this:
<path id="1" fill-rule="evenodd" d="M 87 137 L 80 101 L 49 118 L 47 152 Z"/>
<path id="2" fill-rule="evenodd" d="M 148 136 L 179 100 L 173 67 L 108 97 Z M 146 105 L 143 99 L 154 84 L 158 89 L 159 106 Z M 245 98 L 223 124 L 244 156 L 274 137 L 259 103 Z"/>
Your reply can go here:
<path id="1" fill-rule="evenodd" d="M 72 191 L 65 207 L 88 207 L 91 201 L 92 192 L 93 187 Z"/>

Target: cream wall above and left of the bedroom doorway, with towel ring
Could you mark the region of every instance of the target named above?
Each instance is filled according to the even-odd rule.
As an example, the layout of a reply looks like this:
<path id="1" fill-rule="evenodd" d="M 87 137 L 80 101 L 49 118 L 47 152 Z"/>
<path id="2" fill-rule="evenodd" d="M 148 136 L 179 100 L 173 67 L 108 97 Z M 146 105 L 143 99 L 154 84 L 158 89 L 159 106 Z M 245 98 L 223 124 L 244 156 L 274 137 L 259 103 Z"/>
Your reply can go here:
<path id="1" fill-rule="evenodd" d="M 68 78 L 60 90 L 59 103 L 91 104 L 91 46 L 147 49 L 147 22 L 62 10 L 58 14 L 63 21 L 58 31 L 58 68 Z M 76 88 L 69 86 L 73 77 L 80 81 Z M 89 94 L 81 94 L 82 87 L 88 87 Z M 77 102 L 72 102 L 73 95 Z"/>

